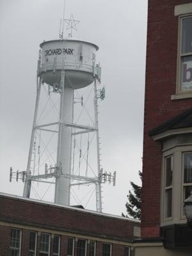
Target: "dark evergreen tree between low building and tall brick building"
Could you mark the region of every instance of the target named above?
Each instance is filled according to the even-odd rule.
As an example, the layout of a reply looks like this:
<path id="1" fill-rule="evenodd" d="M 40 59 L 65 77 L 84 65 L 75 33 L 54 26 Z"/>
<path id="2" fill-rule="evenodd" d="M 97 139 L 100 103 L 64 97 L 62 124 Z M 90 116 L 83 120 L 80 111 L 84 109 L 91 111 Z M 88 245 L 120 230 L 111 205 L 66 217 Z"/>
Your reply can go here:
<path id="1" fill-rule="evenodd" d="M 139 171 L 140 179 L 142 181 L 142 173 Z M 122 212 L 124 217 L 133 217 L 135 219 L 141 220 L 141 186 L 130 182 L 132 186 L 132 192 L 129 190 L 129 195 L 127 195 L 127 203 L 125 204 L 126 211 L 128 215 Z"/>

